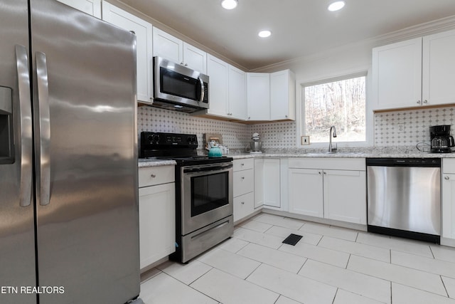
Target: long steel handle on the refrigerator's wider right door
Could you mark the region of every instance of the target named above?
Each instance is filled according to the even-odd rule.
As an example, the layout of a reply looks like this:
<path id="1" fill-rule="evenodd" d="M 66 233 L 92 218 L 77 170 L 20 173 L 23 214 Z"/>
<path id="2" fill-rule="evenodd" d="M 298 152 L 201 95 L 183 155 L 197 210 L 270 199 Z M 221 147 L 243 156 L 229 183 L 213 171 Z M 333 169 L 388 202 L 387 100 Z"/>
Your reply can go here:
<path id="1" fill-rule="evenodd" d="M 38 136 L 37 153 L 39 165 L 39 201 L 41 206 L 50 202 L 50 111 L 48 64 L 45 53 L 36 52 L 36 75 L 38 83 Z"/>

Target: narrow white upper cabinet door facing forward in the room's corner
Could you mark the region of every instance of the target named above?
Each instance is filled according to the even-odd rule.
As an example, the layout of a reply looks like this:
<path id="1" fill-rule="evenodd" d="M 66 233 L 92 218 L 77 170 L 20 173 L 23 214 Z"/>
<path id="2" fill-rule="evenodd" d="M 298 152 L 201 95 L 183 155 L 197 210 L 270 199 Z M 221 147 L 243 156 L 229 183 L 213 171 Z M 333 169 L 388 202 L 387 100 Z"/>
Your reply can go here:
<path id="1" fill-rule="evenodd" d="M 247 120 L 270 120 L 269 73 L 247 73 Z"/>

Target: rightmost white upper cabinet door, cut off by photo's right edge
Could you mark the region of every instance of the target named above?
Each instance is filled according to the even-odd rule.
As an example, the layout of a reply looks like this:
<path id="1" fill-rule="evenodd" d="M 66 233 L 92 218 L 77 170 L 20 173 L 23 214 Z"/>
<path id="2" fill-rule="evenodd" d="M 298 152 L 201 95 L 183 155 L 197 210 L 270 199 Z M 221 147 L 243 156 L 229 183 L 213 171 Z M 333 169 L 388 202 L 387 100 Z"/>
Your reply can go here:
<path id="1" fill-rule="evenodd" d="M 424 105 L 455 102 L 455 31 L 423 40 L 422 100 Z"/>

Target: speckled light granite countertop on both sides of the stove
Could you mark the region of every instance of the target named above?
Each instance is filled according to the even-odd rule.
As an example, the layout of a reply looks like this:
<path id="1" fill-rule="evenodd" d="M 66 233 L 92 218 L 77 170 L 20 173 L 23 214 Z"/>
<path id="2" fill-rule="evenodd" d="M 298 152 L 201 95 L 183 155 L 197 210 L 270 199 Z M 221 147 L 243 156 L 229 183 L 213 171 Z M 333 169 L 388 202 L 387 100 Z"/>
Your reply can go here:
<path id="1" fill-rule="evenodd" d="M 201 152 L 203 153 L 203 152 Z M 412 147 L 346 147 L 336 153 L 325 149 L 270 149 L 263 153 L 250 154 L 242 150 L 232 150 L 228 157 L 245 159 L 253 157 L 334 157 L 334 158 L 455 158 L 454 153 L 429 153 Z M 139 168 L 174 165 L 173 160 L 139 159 Z"/>

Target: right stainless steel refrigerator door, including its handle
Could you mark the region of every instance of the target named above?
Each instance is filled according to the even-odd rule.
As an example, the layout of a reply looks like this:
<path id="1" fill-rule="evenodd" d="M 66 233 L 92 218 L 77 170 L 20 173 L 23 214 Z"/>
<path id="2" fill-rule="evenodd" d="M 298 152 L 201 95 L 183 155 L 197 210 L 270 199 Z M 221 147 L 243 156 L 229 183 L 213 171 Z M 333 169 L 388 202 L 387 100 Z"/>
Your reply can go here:
<path id="1" fill-rule="evenodd" d="M 139 295 L 135 36 L 31 1 L 40 303 Z M 60 289 L 61 290 L 61 289 Z"/>

